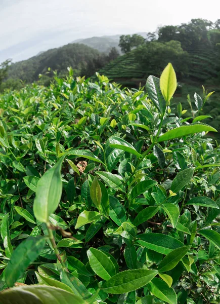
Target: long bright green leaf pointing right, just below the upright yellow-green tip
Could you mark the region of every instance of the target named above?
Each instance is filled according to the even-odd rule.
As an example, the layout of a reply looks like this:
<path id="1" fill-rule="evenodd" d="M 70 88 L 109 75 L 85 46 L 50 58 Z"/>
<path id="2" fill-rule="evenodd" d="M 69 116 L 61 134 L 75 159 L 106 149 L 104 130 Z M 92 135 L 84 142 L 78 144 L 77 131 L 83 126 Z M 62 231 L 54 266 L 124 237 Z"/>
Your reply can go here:
<path id="1" fill-rule="evenodd" d="M 208 125 L 202 124 L 202 123 L 195 123 L 195 124 L 191 124 L 191 125 L 181 126 L 181 127 L 169 130 L 166 133 L 164 133 L 163 135 L 159 136 L 158 142 L 166 141 L 166 140 L 170 140 L 170 139 L 174 139 L 174 138 L 179 138 L 179 137 L 183 137 L 186 135 L 191 135 L 191 134 L 195 134 L 195 133 L 199 133 L 199 132 L 208 132 L 208 131 L 217 132 L 217 130 L 215 130 L 214 128 L 212 128 Z"/>

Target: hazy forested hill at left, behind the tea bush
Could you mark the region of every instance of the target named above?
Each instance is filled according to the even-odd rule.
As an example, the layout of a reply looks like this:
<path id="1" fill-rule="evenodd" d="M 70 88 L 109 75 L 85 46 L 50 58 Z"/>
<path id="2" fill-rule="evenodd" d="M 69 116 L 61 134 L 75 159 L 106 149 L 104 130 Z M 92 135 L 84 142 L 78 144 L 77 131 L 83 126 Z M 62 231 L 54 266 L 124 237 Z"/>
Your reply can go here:
<path id="1" fill-rule="evenodd" d="M 73 68 L 75 76 L 90 77 L 118 56 L 116 48 L 105 54 L 83 44 L 68 44 L 40 53 L 28 60 L 11 64 L 11 61 L 7 60 L 2 64 L 2 68 L 0 66 L 0 89 L 18 89 L 25 83 L 35 81 L 47 85 L 53 79 L 55 70 L 63 77 L 67 74 L 68 66 Z"/>

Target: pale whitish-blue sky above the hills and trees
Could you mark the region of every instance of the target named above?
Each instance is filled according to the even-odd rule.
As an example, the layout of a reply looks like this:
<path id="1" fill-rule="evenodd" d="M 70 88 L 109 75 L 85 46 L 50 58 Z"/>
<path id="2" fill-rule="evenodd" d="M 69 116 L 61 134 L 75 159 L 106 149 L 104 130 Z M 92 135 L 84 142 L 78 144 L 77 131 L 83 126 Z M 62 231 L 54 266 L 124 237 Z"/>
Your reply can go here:
<path id="1" fill-rule="evenodd" d="M 76 39 L 220 19 L 219 0 L 0 0 L 0 63 Z"/>

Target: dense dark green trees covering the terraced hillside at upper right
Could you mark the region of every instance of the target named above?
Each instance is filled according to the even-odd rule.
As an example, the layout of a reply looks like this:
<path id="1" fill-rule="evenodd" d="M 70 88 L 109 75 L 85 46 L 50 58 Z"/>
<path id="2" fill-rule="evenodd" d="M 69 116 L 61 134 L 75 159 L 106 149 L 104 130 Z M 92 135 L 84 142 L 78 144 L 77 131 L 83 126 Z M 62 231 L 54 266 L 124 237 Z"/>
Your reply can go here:
<path id="1" fill-rule="evenodd" d="M 172 62 L 181 77 L 201 78 L 202 81 L 220 76 L 220 19 L 211 22 L 192 19 L 181 25 L 158 27 L 141 35 L 122 35 L 119 46 L 123 53 L 133 51 L 135 60 L 147 74 L 159 75 Z"/>

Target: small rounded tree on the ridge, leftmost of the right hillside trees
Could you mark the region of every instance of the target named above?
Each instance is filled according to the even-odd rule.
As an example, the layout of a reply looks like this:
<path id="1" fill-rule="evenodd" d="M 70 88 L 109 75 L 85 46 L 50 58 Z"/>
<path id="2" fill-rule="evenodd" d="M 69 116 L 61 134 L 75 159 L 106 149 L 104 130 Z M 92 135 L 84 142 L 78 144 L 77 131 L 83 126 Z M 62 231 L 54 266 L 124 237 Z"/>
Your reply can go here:
<path id="1" fill-rule="evenodd" d="M 143 36 L 139 34 L 131 35 L 121 35 L 119 41 L 119 47 L 121 48 L 122 53 L 128 53 L 133 48 L 139 47 L 145 43 Z"/>

